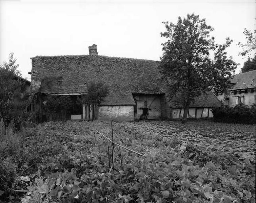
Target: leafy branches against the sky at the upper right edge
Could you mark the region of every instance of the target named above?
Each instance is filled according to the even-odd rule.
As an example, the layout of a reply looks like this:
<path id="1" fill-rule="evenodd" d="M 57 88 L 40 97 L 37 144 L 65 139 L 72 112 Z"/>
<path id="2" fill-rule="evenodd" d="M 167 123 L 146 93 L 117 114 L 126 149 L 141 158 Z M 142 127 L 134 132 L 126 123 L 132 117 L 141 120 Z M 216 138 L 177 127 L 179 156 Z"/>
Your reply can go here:
<path id="1" fill-rule="evenodd" d="M 245 56 L 246 54 L 250 53 L 251 51 L 256 50 L 256 30 L 254 30 L 254 33 L 251 30 L 248 30 L 244 28 L 243 34 L 245 36 L 245 39 L 247 39 L 246 44 L 242 44 L 241 42 L 238 42 L 238 45 L 242 48 L 242 52 L 239 52 L 240 55 Z"/>

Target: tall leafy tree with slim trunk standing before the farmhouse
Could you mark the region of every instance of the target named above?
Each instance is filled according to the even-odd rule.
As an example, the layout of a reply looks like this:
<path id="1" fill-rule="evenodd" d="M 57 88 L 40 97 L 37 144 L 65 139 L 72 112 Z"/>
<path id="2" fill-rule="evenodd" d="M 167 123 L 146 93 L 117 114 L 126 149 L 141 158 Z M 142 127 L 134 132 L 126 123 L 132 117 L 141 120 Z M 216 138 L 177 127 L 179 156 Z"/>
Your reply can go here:
<path id="1" fill-rule="evenodd" d="M 225 51 L 232 40 L 227 38 L 225 44 L 215 44 L 210 35 L 213 28 L 194 14 L 188 14 L 183 20 L 178 17 L 177 24 L 163 24 L 166 31 L 161 37 L 168 40 L 162 44 L 160 72 L 170 95 L 175 95 L 182 104 L 185 122 L 189 106 L 197 96 L 212 88 L 219 91 L 227 85 L 227 78 L 237 66 Z M 210 51 L 215 51 L 213 60 Z"/>

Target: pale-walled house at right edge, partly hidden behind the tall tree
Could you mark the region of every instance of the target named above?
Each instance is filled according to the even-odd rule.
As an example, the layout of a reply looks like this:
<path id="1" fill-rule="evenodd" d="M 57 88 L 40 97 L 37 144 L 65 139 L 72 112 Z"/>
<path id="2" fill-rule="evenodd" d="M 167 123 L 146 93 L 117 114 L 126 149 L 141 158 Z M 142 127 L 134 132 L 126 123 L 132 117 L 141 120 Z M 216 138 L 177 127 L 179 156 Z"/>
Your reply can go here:
<path id="1" fill-rule="evenodd" d="M 256 100 L 256 70 L 235 75 L 231 88 L 226 93 L 219 93 L 218 99 L 229 107 L 238 104 L 252 106 Z"/>

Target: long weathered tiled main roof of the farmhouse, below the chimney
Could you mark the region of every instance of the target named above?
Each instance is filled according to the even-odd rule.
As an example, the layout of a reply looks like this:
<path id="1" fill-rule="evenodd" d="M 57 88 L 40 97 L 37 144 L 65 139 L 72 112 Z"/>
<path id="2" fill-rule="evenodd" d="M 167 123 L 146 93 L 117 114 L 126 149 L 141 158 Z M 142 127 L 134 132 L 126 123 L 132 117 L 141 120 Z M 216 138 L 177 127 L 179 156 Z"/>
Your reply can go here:
<path id="1" fill-rule="evenodd" d="M 132 93 L 164 93 L 157 61 L 101 55 L 36 56 L 31 59 L 32 93 L 39 90 L 42 78 L 49 76 L 59 78 L 59 83 L 55 82 L 50 90 L 40 90 L 47 94 L 85 94 L 87 84 L 102 82 L 109 87 L 109 95 L 102 103 L 105 105 L 134 105 Z"/>

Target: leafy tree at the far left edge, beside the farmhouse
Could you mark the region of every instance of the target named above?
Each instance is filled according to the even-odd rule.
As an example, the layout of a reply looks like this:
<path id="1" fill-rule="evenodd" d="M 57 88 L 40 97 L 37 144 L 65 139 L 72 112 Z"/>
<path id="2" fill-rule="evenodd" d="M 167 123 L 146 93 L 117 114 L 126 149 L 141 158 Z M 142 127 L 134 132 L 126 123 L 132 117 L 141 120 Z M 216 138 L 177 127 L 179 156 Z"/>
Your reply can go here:
<path id="1" fill-rule="evenodd" d="M 16 124 L 26 119 L 28 100 L 22 87 L 19 65 L 14 53 L 9 54 L 9 61 L 0 65 L 0 118 L 8 124 L 13 119 Z"/>

